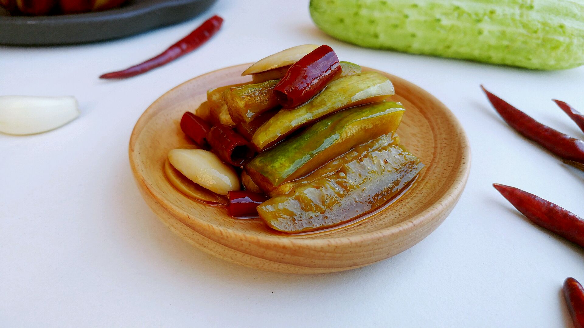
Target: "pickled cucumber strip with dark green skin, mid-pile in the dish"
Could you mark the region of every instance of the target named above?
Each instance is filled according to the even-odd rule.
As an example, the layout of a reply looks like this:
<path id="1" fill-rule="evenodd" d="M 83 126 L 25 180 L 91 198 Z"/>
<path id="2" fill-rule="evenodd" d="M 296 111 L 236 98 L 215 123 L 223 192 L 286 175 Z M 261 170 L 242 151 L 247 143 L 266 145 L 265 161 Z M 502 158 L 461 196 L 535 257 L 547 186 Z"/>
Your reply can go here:
<path id="1" fill-rule="evenodd" d="M 253 181 L 269 192 L 283 182 L 307 175 L 354 146 L 395 132 L 404 111 L 401 104 L 392 102 L 340 111 L 261 152 L 245 168 Z"/>

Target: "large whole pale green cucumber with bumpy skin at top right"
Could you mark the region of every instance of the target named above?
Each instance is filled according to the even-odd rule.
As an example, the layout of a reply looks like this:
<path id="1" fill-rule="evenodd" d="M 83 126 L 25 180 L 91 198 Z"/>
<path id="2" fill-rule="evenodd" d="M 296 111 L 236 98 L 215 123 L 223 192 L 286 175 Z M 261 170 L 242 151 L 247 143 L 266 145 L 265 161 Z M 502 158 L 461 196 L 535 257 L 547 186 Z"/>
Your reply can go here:
<path id="1" fill-rule="evenodd" d="M 584 0 L 311 0 L 310 14 L 363 47 L 531 69 L 584 64 Z"/>

